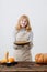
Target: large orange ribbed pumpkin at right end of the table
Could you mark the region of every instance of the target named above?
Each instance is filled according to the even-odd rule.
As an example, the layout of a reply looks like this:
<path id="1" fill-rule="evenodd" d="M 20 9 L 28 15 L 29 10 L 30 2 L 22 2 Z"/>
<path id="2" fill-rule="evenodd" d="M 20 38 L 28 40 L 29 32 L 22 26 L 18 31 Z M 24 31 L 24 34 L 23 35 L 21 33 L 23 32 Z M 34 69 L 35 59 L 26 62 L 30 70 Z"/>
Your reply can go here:
<path id="1" fill-rule="evenodd" d="M 47 63 L 47 53 L 38 53 L 35 55 L 36 63 Z"/>

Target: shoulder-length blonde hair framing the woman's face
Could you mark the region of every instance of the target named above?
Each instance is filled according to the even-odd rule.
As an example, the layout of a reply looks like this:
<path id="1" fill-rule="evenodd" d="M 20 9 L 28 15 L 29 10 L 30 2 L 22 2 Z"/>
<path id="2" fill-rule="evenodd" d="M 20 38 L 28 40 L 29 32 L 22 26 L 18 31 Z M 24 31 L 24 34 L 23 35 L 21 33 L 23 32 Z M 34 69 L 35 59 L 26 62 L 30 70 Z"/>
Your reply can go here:
<path id="1" fill-rule="evenodd" d="M 19 21 L 17 21 L 17 25 L 15 27 L 15 29 L 19 30 L 19 31 L 21 30 L 22 27 L 21 27 L 20 21 L 21 21 L 22 19 L 24 19 L 24 18 L 27 20 L 27 25 L 25 27 L 25 29 L 26 29 L 26 31 L 31 31 L 32 28 L 31 28 L 31 25 L 30 25 L 28 17 L 25 16 L 25 14 L 23 14 L 23 16 L 20 17 L 20 19 L 19 19 Z"/>

